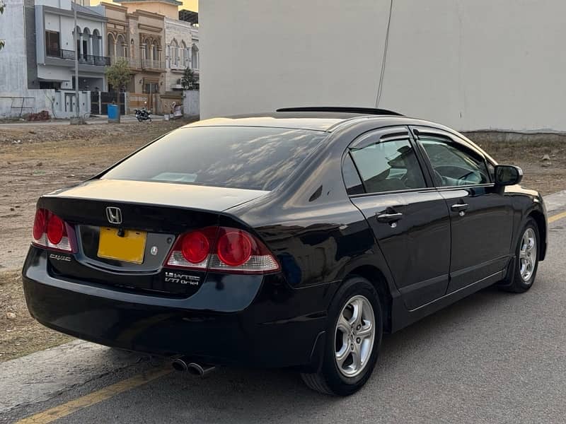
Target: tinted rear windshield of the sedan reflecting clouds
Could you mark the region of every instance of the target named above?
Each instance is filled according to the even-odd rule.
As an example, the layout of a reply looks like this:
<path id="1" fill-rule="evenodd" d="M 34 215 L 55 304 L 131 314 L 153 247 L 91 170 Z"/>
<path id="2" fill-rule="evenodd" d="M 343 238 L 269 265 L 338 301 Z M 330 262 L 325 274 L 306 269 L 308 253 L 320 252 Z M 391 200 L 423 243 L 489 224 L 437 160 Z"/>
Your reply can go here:
<path id="1" fill-rule="evenodd" d="M 135 153 L 102 178 L 272 190 L 327 135 L 255 126 L 181 128 Z"/>

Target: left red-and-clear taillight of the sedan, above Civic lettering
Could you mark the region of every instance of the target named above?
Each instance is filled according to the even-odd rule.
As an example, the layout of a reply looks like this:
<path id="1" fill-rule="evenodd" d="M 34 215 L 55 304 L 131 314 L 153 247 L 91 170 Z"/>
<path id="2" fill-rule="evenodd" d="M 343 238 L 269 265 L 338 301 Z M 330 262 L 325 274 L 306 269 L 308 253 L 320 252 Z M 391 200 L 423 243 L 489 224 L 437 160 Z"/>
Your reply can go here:
<path id="1" fill-rule="evenodd" d="M 67 224 L 47 209 L 37 209 L 33 222 L 33 244 L 62 252 L 72 252 Z"/>

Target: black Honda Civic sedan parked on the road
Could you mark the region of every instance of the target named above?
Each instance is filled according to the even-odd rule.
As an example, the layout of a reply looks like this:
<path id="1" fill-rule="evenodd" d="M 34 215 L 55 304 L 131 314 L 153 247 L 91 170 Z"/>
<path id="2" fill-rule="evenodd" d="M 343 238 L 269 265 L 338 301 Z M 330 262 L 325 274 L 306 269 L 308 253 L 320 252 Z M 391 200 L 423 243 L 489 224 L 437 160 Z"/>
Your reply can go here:
<path id="1" fill-rule="evenodd" d="M 531 288 L 546 216 L 521 177 L 387 110 L 195 122 L 40 197 L 25 299 L 52 329 L 178 369 L 292 367 L 352 394 L 384 332 Z"/>

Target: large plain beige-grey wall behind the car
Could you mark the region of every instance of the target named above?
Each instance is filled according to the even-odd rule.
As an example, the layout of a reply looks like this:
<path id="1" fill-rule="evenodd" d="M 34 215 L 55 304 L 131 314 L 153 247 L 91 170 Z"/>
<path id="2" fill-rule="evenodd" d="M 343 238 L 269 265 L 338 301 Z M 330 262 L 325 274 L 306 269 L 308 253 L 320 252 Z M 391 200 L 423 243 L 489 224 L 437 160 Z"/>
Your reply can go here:
<path id="1" fill-rule="evenodd" d="M 389 4 L 202 1 L 202 117 L 375 107 Z M 379 107 L 462 130 L 566 131 L 565 16 L 563 0 L 393 0 Z"/>

